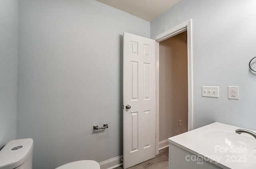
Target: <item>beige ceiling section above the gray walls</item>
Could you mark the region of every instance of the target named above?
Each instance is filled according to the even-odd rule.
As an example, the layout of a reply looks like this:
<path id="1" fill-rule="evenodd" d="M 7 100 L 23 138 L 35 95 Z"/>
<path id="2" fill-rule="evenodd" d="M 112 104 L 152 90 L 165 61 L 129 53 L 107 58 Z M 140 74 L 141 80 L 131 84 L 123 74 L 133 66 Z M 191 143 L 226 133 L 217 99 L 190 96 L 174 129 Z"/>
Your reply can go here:
<path id="1" fill-rule="evenodd" d="M 181 0 L 97 0 L 147 21 L 152 21 Z"/>

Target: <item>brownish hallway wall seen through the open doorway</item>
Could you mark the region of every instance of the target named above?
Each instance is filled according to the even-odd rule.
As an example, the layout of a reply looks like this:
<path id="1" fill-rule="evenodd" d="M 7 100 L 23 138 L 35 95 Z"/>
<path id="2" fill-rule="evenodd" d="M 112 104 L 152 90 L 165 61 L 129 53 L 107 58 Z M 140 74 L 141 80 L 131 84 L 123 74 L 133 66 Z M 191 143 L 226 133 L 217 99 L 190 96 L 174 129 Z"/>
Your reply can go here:
<path id="1" fill-rule="evenodd" d="M 159 43 L 159 141 L 188 131 L 187 48 L 187 31 Z"/>

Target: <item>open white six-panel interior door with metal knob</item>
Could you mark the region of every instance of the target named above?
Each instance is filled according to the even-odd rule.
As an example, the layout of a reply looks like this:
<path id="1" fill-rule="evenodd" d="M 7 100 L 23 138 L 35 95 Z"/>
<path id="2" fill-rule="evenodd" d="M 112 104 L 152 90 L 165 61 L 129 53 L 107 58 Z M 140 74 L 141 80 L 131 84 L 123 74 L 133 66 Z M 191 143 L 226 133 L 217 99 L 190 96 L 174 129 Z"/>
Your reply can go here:
<path id="1" fill-rule="evenodd" d="M 124 32 L 123 167 L 156 156 L 156 42 Z"/>

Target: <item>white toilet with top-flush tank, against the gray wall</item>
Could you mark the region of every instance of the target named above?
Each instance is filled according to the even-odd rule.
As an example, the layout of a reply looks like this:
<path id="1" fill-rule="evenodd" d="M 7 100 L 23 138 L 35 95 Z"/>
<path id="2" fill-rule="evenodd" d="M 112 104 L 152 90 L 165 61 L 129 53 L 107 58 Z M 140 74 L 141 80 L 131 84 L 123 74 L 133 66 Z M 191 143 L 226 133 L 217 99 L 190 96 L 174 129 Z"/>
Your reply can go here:
<path id="1" fill-rule="evenodd" d="M 0 151 L 0 169 L 32 169 L 33 140 L 12 140 Z M 67 163 L 56 169 L 100 169 L 96 161 L 81 160 Z"/>

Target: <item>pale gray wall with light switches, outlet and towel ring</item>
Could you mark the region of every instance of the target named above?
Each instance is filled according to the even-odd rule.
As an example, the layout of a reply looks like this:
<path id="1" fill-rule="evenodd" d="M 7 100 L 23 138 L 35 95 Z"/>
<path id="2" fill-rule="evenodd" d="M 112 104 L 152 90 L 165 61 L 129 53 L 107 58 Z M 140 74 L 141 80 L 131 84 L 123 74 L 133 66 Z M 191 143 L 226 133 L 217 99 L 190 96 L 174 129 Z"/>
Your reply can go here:
<path id="1" fill-rule="evenodd" d="M 255 0 L 183 0 L 150 23 L 154 37 L 192 18 L 194 128 L 222 122 L 256 130 L 256 75 L 248 68 L 255 9 Z M 202 97 L 202 86 L 220 86 L 220 98 Z M 240 100 L 228 100 L 227 86 L 240 87 Z"/>

